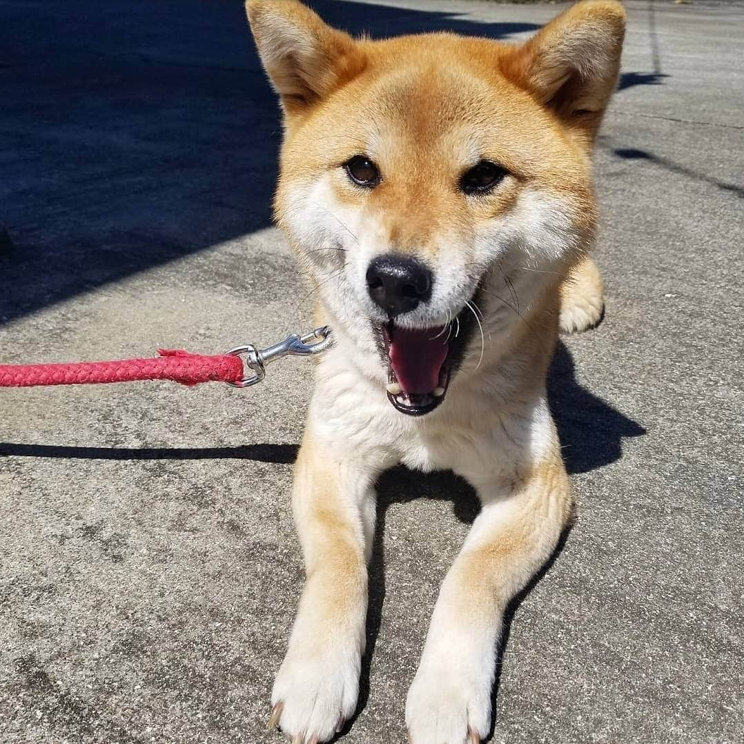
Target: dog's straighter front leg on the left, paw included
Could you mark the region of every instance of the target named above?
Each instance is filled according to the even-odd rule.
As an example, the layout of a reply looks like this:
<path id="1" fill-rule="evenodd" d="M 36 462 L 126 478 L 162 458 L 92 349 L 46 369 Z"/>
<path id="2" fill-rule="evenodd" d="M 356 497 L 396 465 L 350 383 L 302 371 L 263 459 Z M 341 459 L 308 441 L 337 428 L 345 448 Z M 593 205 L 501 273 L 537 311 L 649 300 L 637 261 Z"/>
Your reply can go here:
<path id="1" fill-rule="evenodd" d="M 300 744 L 330 740 L 356 708 L 377 472 L 306 432 L 292 507 L 307 578 L 269 723 Z"/>

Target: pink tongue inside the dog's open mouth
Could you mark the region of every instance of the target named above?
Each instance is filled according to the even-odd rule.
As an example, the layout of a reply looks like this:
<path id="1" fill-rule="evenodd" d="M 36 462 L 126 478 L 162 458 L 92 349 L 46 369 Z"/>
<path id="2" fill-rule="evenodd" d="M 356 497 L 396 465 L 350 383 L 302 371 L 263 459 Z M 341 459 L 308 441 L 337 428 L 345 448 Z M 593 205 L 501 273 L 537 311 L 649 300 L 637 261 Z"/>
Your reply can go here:
<path id="1" fill-rule="evenodd" d="M 439 373 L 447 357 L 443 330 L 392 330 L 390 363 L 400 387 L 409 395 L 431 393 L 439 385 Z"/>

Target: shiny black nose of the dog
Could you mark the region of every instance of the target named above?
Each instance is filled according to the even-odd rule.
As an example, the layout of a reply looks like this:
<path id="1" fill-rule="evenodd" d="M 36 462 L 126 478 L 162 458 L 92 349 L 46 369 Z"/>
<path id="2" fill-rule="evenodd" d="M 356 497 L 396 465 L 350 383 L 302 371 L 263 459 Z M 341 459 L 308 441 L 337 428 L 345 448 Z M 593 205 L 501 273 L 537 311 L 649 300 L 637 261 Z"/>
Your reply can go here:
<path id="1" fill-rule="evenodd" d="M 412 258 L 378 256 L 367 269 L 367 289 L 373 301 L 394 318 L 432 296 L 432 272 Z"/>

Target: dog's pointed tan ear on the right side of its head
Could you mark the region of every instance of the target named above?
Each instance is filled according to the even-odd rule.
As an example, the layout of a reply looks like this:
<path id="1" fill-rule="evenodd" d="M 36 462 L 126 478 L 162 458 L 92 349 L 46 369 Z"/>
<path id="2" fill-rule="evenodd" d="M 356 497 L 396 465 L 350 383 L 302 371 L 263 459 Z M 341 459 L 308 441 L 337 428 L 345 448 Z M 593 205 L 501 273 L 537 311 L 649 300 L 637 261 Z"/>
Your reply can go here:
<path id="1" fill-rule="evenodd" d="M 618 83 L 624 35 L 622 4 L 579 2 L 507 57 L 504 72 L 591 141 Z"/>

